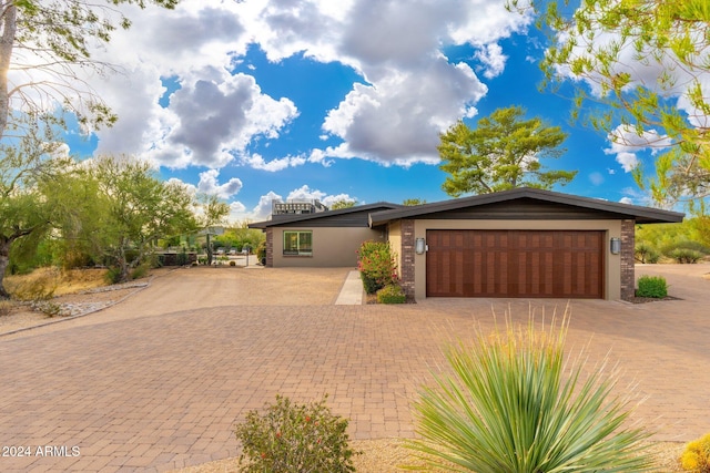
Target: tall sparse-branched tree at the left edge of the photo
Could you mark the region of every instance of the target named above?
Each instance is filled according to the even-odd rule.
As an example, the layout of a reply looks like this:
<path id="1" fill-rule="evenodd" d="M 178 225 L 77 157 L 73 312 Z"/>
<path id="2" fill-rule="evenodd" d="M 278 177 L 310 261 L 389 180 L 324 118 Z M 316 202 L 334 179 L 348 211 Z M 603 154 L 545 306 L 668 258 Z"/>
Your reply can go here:
<path id="1" fill-rule="evenodd" d="M 111 70 L 92 60 L 89 45 L 130 27 L 115 6 L 174 8 L 178 1 L 0 0 L 0 297 L 7 297 L 2 277 L 11 246 L 39 240 L 51 226 L 51 199 L 38 184 L 63 168 L 53 157 L 53 131 L 64 126 L 64 113 L 87 130 L 116 120 L 79 73 Z"/>

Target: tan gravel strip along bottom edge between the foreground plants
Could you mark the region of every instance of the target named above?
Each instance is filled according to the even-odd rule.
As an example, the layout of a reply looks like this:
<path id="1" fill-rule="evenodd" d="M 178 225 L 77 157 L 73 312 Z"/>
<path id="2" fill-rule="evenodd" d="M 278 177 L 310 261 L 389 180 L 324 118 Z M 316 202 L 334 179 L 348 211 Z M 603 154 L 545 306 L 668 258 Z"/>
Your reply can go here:
<path id="1" fill-rule="evenodd" d="M 395 473 L 403 472 L 400 466 L 416 463 L 409 450 L 404 448 L 399 439 L 361 440 L 351 442 L 351 446 L 362 454 L 354 459 L 358 473 Z M 681 473 L 683 470 L 678 464 L 678 457 L 682 453 L 684 444 L 676 442 L 653 443 L 651 449 L 657 459 L 659 471 L 667 473 Z M 239 473 L 237 459 L 226 459 L 202 465 L 175 470 L 179 473 Z"/>

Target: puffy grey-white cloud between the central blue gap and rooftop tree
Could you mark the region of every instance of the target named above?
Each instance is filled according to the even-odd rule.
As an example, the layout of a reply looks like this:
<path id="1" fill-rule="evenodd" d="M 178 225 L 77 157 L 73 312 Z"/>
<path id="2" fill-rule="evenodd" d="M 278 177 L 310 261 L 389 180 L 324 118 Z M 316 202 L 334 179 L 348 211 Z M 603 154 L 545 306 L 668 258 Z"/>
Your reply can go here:
<path id="1" fill-rule="evenodd" d="M 444 58 L 427 74 L 388 71 L 377 86 L 355 84 L 323 124 L 344 143 L 328 150 L 336 157 L 385 164 L 437 163 L 438 134 L 483 97 L 487 88 L 466 64 Z"/>

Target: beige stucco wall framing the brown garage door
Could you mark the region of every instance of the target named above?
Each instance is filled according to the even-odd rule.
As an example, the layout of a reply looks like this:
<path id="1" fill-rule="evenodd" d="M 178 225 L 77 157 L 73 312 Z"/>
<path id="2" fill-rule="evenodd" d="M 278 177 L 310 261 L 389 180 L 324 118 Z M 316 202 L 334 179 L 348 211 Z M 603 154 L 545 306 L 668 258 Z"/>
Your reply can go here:
<path id="1" fill-rule="evenodd" d="M 414 237 L 426 238 L 426 230 L 480 229 L 480 230 L 604 230 L 605 243 L 605 299 L 621 298 L 621 256 L 609 251 L 609 239 L 621 237 L 621 220 L 415 220 Z M 400 244 L 389 235 L 393 248 L 400 251 Z M 402 239 L 399 239 L 400 241 Z M 426 254 L 415 255 L 415 298 L 426 298 Z"/>

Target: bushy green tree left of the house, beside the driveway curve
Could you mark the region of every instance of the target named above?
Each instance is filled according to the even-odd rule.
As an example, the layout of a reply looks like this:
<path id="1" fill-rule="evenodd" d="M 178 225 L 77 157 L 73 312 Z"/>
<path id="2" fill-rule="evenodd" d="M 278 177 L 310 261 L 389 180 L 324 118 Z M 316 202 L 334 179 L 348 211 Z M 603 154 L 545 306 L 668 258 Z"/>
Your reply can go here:
<path id="1" fill-rule="evenodd" d="M 195 232 L 193 198 L 186 186 L 163 182 L 152 166 L 130 156 L 101 156 L 88 164 L 88 179 L 98 187 L 99 219 L 88 238 L 98 255 L 118 269 L 115 281 L 128 280 L 155 241 Z"/>

